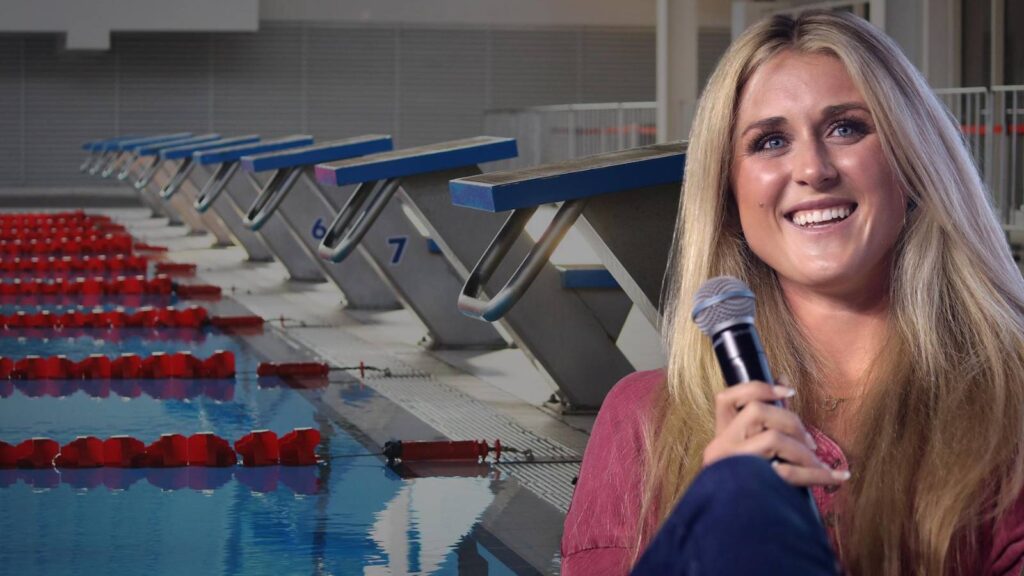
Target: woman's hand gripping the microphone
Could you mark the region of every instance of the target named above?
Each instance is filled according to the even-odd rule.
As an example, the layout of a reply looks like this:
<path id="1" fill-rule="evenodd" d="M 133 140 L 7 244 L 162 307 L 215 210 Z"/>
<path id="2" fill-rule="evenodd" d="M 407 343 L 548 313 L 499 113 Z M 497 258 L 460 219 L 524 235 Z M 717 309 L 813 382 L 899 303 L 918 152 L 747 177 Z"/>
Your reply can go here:
<path id="1" fill-rule="evenodd" d="M 729 456 L 774 460 L 778 476 L 794 486 L 842 484 L 849 478 L 815 455 L 814 440 L 796 414 L 772 404 L 796 390 L 760 381 L 729 386 L 715 397 L 715 438 L 705 448 L 707 466 Z"/>

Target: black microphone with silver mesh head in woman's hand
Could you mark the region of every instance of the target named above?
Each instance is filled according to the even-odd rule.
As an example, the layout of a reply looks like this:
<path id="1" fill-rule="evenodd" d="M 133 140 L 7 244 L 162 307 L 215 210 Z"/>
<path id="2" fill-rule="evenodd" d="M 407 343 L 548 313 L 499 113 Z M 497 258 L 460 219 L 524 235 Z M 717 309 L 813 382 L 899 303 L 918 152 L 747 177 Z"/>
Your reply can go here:
<path id="1" fill-rule="evenodd" d="M 754 292 L 731 276 L 719 276 L 705 282 L 693 296 L 690 316 L 700 331 L 711 338 L 725 384 L 732 386 L 751 380 L 774 384 L 761 336 L 754 327 L 757 310 Z M 772 402 L 782 407 L 782 401 Z M 811 491 L 804 488 L 811 510 L 821 522 Z"/>

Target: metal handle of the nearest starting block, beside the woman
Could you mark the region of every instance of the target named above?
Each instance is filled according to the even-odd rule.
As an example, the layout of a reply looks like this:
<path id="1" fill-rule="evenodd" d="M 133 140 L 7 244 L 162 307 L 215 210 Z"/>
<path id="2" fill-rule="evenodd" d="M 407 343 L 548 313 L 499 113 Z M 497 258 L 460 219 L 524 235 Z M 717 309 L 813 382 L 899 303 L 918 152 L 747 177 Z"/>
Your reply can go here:
<path id="1" fill-rule="evenodd" d="M 495 322 L 505 316 L 526 293 L 526 289 L 529 288 L 537 275 L 544 270 L 552 252 L 579 219 L 586 205 L 586 199 L 563 203 L 551 223 L 548 224 L 547 230 L 541 235 L 541 239 L 530 248 L 529 253 L 512 273 L 509 281 L 493 298 L 487 299 L 481 295 L 484 285 L 490 281 L 495 271 L 498 270 L 516 240 L 522 235 L 526 222 L 529 221 L 538 207 L 531 206 L 513 210 L 505 223 L 502 224 L 501 230 L 498 231 L 498 235 L 490 241 L 486 251 L 476 262 L 469 278 L 466 279 L 462 293 L 459 294 L 459 310 L 466 316 L 486 322 Z"/>

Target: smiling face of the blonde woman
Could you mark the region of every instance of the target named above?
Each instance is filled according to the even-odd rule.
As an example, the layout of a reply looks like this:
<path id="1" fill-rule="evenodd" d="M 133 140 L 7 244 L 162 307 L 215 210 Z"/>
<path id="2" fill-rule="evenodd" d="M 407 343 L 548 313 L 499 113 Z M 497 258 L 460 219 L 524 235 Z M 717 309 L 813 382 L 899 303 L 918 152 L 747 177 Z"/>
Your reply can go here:
<path id="1" fill-rule="evenodd" d="M 783 290 L 884 293 L 906 201 L 843 64 L 779 53 L 743 87 L 735 125 L 743 236 Z"/>

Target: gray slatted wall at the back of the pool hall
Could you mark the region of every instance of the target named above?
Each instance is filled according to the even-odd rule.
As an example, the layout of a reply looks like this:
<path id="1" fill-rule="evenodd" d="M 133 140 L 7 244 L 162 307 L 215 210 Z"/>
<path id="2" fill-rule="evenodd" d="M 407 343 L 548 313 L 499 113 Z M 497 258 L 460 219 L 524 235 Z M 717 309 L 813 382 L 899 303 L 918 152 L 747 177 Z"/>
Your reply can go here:
<path id="1" fill-rule="evenodd" d="M 257 34 L 115 34 L 108 52 L 0 36 L 0 187 L 95 186 L 87 139 L 215 130 L 400 147 L 477 135 L 483 111 L 651 100 L 653 28 L 263 23 Z"/>

